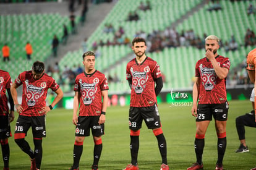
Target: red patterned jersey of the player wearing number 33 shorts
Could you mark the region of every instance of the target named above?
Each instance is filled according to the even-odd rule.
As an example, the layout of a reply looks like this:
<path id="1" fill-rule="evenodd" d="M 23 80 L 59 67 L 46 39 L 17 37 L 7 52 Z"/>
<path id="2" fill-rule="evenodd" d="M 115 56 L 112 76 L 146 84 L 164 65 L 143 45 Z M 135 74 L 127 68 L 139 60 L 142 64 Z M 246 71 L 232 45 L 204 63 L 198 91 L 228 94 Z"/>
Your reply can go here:
<path id="1" fill-rule="evenodd" d="M 159 65 L 150 57 L 146 57 L 141 64 L 138 64 L 135 58 L 129 61 L 126 67 L 126 79 L 132 82 L 130 106 L 147 107 L 157 103 L 155 79 L 161 76 Z"/>

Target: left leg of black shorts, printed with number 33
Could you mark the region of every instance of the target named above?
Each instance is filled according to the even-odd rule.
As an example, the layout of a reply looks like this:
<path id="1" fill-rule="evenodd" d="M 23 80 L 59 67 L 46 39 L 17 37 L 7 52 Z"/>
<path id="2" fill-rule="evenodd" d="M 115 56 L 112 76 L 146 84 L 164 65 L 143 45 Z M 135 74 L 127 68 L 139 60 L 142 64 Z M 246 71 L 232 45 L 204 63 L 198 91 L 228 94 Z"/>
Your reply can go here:
<path id="1" fill-rule="evenodd" d="M 139 130 L 142 127 L 142 116 L 140 108 L 130 107 L 129 109 L 129 128 L 131 130 Z"/>

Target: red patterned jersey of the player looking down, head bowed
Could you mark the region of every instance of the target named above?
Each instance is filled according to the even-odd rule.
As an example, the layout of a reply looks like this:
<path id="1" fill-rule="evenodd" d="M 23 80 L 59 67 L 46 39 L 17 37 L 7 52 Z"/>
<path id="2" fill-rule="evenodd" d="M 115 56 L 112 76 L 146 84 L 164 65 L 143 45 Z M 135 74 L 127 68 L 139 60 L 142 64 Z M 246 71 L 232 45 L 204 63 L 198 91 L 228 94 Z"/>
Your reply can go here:
<path id="1" fill-rule="evenodd" d="M 32 70 L 22 72 L 15 83 L 22 88 L 22 116 L 42 116 L 41 111 L 46 106 L 46 96 L 48 89 L 56 91 L 59 88 L 58 83 L 47 74 L 43 74 L 40 79 L 33 78 Z"/>

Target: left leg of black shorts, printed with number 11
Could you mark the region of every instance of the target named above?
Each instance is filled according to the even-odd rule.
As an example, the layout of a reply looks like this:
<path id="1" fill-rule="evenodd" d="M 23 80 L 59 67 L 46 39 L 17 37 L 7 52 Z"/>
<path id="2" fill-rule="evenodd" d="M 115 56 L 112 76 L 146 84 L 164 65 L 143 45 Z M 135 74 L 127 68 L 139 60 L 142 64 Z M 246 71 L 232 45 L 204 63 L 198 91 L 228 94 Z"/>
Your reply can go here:
<path id="1" fill-rule="evenodd" d="M 90 136 L 90 116 L 79 116 L 75 127 L 76 137 Z"/>

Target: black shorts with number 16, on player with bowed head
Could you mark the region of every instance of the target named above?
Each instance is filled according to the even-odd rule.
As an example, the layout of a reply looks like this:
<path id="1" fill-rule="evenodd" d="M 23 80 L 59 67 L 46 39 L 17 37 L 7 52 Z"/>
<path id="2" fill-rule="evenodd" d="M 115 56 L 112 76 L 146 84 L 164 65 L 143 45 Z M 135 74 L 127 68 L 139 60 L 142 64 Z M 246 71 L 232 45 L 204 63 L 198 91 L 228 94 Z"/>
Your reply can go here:
<path id="1" fill-rule="evenodd" d="M 45 130 L 45 115 L 43 116 L 22 116 L 19 118 L 15 126 L 15 134 L 26 134 L 28 129 L 32 127 L 33 137 L 41 138 L 46 137 Z"/>

